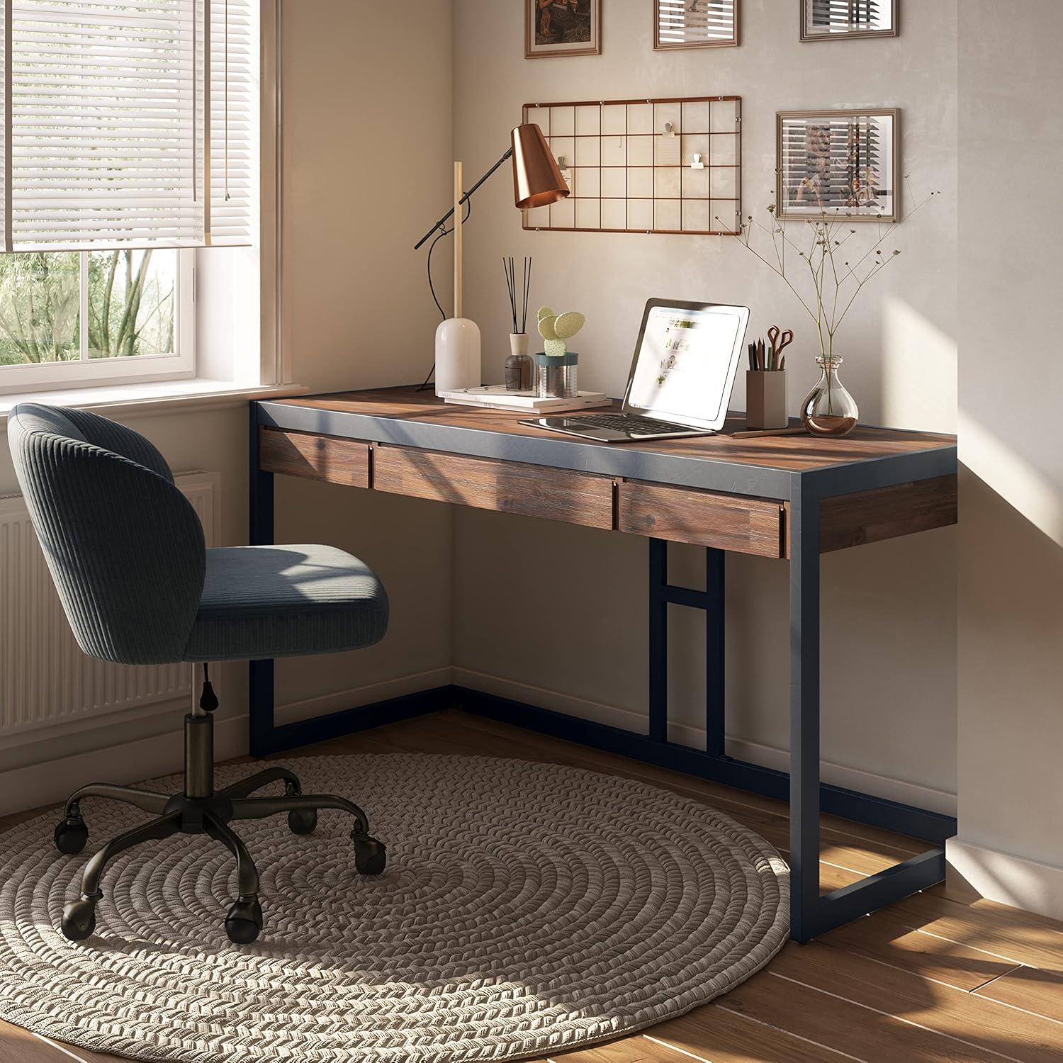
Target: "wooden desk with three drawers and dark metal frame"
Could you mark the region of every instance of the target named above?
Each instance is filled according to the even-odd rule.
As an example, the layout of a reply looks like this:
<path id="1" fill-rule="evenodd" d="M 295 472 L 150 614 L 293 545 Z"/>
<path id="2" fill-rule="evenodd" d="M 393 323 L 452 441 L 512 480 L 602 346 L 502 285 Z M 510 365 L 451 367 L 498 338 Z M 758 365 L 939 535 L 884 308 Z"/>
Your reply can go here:
<path id="1" fill-rule="evenodd" d="M 820 782 L 820 556 L 955 524 L 951 436 L 858 428 L 843 440 L 716 436 L 607 445 L 448 406 L 411 388 L 251 407 L 251 542 L 272 542 L 273 476 L 613 529 L 649 540 L 648 735 L 463 688 L 439 688 L 319 720 L 273 725 L 272 661 L 251 665 L 251 748 L 275 753 L 449 705 L 741 787 L 791 804 L 791 932 L 808 941 L 941 881 L 956 821 Z M 668 581 L 668 542 L 707 551 L 704 591 Z M 790 567 L 790 747 L 786 774 L 724 753 L 725 552 Z M 706 749 L 668 741 L 668 606 L 704 609 Z M 933 844 L 922 856 L 820 896 L 820 812 Z"/>

